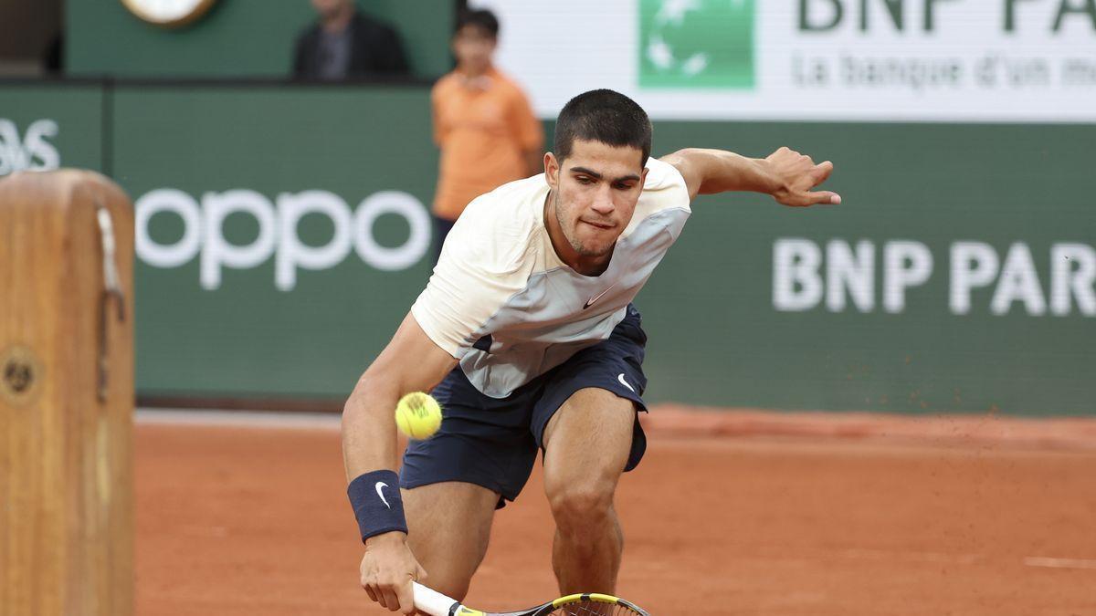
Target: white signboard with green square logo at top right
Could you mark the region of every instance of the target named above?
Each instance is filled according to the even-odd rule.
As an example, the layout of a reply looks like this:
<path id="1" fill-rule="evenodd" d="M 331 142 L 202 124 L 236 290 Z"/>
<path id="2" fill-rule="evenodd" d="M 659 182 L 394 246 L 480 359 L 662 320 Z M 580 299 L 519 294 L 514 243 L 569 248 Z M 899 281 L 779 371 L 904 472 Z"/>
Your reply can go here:
<path id="1" fill-rule="evenodd" d="M 663 119 L 1096 122 L 1096 0 L 471 4 L 544 117 L 610 88 Z"/>

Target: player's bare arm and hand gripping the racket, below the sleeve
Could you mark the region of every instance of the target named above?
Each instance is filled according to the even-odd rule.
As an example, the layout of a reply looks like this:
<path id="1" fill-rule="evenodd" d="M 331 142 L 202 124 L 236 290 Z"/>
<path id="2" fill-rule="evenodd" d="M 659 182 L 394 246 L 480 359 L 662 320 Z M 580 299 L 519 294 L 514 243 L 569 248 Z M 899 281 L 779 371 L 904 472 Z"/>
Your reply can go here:
<path id="1" fill-rule="evenodd" d="M 398 465 L 396 403 L 404 393 L 429 391 L 445 378 L 456 363 L 449 353 L 426 335 L 409 312 L 392 340 L 358 379 L 343 408 L 342 438 L 347 481 L 364 478 L 364 486 L 362 482 L 357 486 L 361 497 L 379 501 L 380 494 L 386 494 L 385 505 L 396 503 L 399 483 L 387 481 L 378 487 L 373 479 L 384 476 L 372 475 L 393 471 Z M 355 505 L 355 513 L 358 513 L 357 509 Z M 378 507 L 383 515 L 390 515 L 390 510 L 391 506 L 388 511 Z M 359 521 L 362 517 L 358 515 Z M 384 517 L 374 520 L 376 524 L 381 524 L 380 528 L 386 524 Z M 368 533 L 368 529 L 364 528 L 363 533 Z M 411 581 L 424 578 L 425 572 L 407 546 L 407 534 L 389 531 L 365 537 L 364 543 L 361 582 L 369 598 L 392 612 L 412 614 Z"/>

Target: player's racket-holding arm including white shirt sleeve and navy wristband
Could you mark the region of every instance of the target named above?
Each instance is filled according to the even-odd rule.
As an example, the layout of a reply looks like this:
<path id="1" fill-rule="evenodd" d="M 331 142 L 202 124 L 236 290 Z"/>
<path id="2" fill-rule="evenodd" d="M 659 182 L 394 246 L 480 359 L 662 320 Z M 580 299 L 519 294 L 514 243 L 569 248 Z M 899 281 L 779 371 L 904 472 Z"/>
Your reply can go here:
<path id="1" fill-rule="evenodd" d="M 375 601 L 408 614 L 414 609 L 410 582 L 422 570 L 407 547 L 402 503 L 392 501 L 399 499 L 396 404 L 404 393 L 441 383 L 491 333 L 492 316 L 527 282 L 524 228 L 499 225 L 500 208 L 480 198 L 488 201 L 473 201 L 460 215 L 426 288 L 343 410 L 347 492 L 365 540 L 362 585 Z"/>

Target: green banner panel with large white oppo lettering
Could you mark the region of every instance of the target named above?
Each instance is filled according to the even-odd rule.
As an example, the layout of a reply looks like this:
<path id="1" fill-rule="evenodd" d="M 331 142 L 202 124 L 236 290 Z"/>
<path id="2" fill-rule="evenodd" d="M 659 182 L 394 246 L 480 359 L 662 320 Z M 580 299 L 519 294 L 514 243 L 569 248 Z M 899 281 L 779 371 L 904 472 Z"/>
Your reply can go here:
<path id="1" fill-rule="evenodd" d="M 147 392 L 343 396 L 430 275 L 429 98 L 119 88 Z"/>

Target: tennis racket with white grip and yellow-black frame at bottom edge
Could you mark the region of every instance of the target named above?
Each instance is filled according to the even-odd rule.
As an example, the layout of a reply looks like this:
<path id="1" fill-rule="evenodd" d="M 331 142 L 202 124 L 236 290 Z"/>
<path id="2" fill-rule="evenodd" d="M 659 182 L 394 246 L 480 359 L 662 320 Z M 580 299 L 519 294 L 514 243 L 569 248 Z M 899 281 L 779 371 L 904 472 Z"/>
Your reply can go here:
<path id="1" fill-rule="evenodd" d="M 518 612 L 480 612 L 460 605 L 459 601 L 427 589 L 419 582 L 414 588 L 414 606 L 430 616 L 650 616 L 642 608 L 613 595 L 585 593 L 561 596 L 544 605 Z"/>

